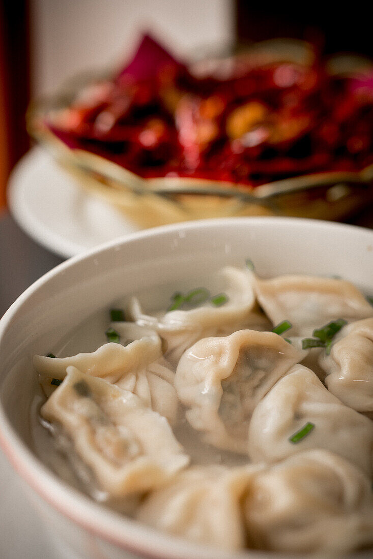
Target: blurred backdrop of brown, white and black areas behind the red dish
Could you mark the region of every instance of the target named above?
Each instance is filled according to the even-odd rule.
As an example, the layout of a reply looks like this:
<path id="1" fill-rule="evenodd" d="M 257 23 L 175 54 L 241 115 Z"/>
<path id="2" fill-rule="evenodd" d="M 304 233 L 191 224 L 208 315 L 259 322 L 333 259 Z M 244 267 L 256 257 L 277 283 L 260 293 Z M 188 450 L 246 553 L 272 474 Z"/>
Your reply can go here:
<path id="1" fill-rule="evenodd" d="M 0 8 L 0 200 L 12 167 L 30 146 L 31 98 L 58 91 L 82 71 L 123 63 L 151 31 L 180 56 L 232 40 L 297 37 L 325 53 L 372 55 L 369 18 L 325 2 L 245 0 L 2 0 Z"/>

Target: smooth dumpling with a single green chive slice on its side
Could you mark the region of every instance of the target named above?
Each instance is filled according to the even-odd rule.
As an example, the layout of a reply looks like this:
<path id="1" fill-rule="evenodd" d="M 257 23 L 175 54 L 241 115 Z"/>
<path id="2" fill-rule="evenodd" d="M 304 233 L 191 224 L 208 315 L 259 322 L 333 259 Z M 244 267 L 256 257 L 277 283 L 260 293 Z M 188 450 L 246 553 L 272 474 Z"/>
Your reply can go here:
<path id="1" fill-rule="evenodd" d="M 297 364 L 255 408 L 249 455 L 254 462 L 278 462 L 311 448 L 333 451 L 372 473 L 373 423 L 330 394 L 313 371 Z"/>

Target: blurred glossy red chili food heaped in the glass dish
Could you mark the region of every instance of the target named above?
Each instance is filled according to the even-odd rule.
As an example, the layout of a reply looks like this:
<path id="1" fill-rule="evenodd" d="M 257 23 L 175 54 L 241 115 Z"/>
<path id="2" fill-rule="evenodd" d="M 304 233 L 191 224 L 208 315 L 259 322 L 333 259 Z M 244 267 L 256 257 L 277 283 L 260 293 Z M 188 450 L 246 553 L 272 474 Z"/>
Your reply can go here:
<path id="1" fill-rule="evenodd" d="M 131 63 L 82 88 L 44 122 L 70 148 L 144 178 L 260 184 L 373 163 L 373 71 L 232 59 L 224 77 L 177 61 L 145 36 Z"/>

